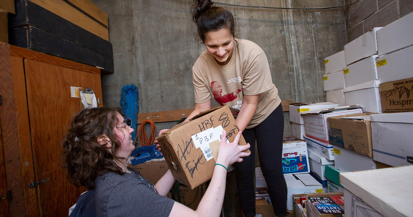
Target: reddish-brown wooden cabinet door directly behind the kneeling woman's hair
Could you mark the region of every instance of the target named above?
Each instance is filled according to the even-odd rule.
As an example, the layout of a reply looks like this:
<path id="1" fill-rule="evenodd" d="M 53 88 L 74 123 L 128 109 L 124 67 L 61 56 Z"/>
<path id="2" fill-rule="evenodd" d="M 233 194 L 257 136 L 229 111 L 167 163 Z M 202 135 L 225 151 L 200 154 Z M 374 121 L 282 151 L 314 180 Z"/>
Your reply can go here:
<path id="1" fill-rule="evenodd" d="M 100 75 L 34 60 L 24 60 L 38 203 L 41 216 L 67 216 L 76 203 L 78 188 L 66 179 L 62 167 L 61 141 L 71 119 L 80 111 L 79 98 L 71 97 L 70 87 L 91 87 L 102 104 Z"/>

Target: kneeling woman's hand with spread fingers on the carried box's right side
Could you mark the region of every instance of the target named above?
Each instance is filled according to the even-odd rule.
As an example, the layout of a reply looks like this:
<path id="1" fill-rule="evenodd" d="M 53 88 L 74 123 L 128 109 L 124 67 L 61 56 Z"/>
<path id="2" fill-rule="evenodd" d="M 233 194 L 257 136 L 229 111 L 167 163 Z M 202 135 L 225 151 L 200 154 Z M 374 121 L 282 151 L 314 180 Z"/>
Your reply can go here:
<path id="1" fill-rule="evenodd" d="M 225 167 L 232 165 L 235 162 L 241 162 L 242 157 L 249 156 L 251 152 L 245 153 L 244 151 L 249 149 L 250 145 L 247 143 L 246 145 L 238 145 L 238 141 L 240 141 L 241 131 L 237 133 L 235 136 L 234 142 L 226 143 L 225 142 L 225 135 L 226 132 L 223 130 L 221 142 L 219 144 L 218 150 L 218 157 L 216 159 L 216 163 L 223 164 Z"/>

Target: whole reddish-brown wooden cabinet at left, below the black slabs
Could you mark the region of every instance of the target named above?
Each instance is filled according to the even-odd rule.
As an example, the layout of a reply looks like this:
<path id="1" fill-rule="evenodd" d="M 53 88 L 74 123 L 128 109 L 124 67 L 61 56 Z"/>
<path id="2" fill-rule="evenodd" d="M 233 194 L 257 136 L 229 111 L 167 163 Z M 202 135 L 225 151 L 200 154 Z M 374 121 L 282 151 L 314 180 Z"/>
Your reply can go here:
<path id="1" fill-rule="evenodd" d="M 80 111 L 71 87 L 91 87 L 102 105 L 100 69 L 0 43 L 0 196 L 12 191 L 1 216 L 67 216 L 87 190 L 62 167 L 61 141 Z"/>

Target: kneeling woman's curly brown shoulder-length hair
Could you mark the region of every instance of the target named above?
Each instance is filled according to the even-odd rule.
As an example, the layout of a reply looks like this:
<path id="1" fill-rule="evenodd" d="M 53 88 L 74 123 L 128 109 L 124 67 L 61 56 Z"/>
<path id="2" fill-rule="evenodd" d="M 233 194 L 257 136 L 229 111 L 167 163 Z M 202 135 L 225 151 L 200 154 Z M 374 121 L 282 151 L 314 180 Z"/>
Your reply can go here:
<path id="1" fill-rule="evenodd" d="M 96 177 L 104 172 L 109 170 L 123 175 L 115 162 L 124 159 L 116 156 L 121 145 L 113 130 L 118 125 L 117 113 L 125 117 L 120 108 L 101 106 L 83 109 L 73 118 L 63 140 L 63 161 L 69 182 L 95 189 Z M 100 135 L 109 137 L 111 151 L 97 142 Z"/>

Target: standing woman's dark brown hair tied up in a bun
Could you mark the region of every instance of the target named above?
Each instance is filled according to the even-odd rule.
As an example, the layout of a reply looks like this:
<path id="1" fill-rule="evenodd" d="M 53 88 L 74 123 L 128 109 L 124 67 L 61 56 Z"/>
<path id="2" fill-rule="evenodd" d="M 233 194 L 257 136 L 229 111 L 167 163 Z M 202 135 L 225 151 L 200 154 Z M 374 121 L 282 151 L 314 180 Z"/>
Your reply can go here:
<path id="1" fill-rule="evenodd" d="M 212 6 L 211 0 L 193 0 L 196 5 L 191 7 L 192 19 L 197 24 L 198 35 L 202 42 L 205 34 L 209 31 L 218 31 L 221 28 L 228 28 L 228 31 L 235 36 L 234 17 L 230 11 L 223 7 Z"/>

